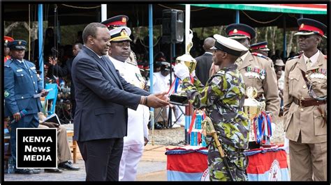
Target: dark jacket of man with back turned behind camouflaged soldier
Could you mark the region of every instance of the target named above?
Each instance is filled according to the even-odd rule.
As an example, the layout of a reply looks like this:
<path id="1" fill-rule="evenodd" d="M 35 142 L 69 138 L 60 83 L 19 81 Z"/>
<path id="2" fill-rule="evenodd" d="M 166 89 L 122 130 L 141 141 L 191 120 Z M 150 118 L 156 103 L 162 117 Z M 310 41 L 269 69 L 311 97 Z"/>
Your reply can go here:
<path id="1" fill-rule="evenodd" d="M 205 85 L 209 79 L 209 70 L 212 66 L 212 54 L 203 54 L 196 59 L 196 77 Z"/>

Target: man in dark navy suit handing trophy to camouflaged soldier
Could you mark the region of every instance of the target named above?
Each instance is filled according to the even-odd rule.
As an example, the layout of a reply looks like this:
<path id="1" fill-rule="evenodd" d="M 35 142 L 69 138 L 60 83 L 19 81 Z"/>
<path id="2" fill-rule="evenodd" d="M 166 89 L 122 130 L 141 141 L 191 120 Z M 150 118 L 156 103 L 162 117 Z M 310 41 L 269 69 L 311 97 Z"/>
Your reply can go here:
<path id="1" fill-rule="evenodd" d="M 85 162 L 87 181 L 118 181 L 128 108 L 167 106 L 166 93 L 151 95 L 119 75 L 105 56 L 110 48 L 107 26 L 88 24 L 82 36 L 84 46 L 71 68 L 76 99 L 74 140 Z"/>

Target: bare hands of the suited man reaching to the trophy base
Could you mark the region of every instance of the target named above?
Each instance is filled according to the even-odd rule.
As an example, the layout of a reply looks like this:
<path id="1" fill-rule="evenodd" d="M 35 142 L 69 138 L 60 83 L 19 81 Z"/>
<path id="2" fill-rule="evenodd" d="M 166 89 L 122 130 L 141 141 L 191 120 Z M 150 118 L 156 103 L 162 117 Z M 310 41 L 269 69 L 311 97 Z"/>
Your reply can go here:
<path id="1" fill-rule="evenodd" d="M 148 96 L 142 96 L 140 98 L 140 104 L 148 107 L 159 108 L 162 106 L 168 106 L 169 98 L 167 96 L 167 92 L 156 93 Z"/>

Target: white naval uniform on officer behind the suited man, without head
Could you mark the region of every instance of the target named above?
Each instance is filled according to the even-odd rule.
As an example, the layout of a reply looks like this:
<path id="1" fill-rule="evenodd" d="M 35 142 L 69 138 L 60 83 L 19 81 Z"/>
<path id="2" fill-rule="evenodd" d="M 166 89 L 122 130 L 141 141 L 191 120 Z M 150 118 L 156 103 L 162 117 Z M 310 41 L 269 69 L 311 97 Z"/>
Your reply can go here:
<path id="1" fill-rule="evenodd" d="M 128 61 L 117 61 L 109 56 L 128 83 L 139 88 L 144 88 L 145 81 L 142 79 L 137 65 Z M 144 150 L 144 137 L 148 139 L 149 108 L 139 105 L 136 111 L 128 108 L 128 134 L 124 137 L 122 159 L 119 163 L 119 181 L 134 181 L 137 175 L 138 163 Z"/>

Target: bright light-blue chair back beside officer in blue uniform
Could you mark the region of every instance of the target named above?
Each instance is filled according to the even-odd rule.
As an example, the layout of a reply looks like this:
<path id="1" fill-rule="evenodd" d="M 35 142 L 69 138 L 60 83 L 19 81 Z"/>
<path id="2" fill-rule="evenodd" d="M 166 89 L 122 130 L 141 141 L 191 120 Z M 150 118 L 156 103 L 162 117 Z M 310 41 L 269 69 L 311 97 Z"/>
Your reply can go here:
<path id="1" fill-rule="evenodd" d="M 48 95 L 45 97 L 45 110 L 47 116 L 52 115 L 55 113 L 55 105 L 57 104 L 57 83 L 46 83 L 45 89 L 51 89 L 48 92 Z"/>

